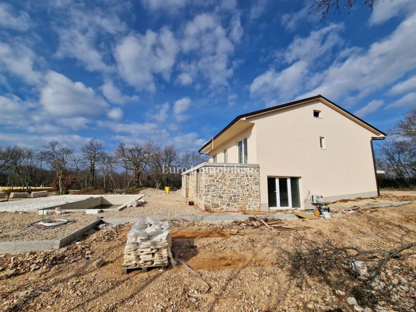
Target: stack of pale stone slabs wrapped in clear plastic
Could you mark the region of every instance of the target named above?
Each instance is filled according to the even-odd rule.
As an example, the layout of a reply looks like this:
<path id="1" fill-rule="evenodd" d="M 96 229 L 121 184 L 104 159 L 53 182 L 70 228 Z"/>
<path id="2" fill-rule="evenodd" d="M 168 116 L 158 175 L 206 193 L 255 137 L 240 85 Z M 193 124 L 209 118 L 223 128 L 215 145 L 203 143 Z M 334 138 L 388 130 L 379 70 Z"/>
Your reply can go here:
<path id="1" fill-rule="evenodd" d="M 171 257 L 171 246 L 169 223 L 140 217 L 127 234 L 123 267 L 166 266 Z"/>

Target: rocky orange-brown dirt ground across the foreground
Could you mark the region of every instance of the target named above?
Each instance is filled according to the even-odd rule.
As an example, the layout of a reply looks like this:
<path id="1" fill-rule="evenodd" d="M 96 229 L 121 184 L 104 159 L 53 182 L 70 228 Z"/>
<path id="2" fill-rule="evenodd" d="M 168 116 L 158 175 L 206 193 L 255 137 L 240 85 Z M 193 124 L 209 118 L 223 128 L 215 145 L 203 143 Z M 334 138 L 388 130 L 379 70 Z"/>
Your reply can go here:
<path id="1" fill-rule="evenodd" d="M 364 210 L 332 219 L 285 220 L 294 229 L 171 221 L 172 249 L 226 299 L 186 299 L 204 285 L 182 266 L 121 274 L 131 224 L 99 230 L 58 251 L 0 255 L 2 311 L 354 311 L 351 296 L 309 278 L 298 288 L 281 249 L 299 234 L 362 249 L 391 249 L 416 230 L 416 204 Z M 405 241 L 407 238 L 404 238 Z M 411 251 L 416 254 L 415 250 Z M 103 258 L 102 267 L 93 262 Z M 33 271 L 33 272 L 30 272 Z M 336 310 L 339 309 L 339 310 Z"/>

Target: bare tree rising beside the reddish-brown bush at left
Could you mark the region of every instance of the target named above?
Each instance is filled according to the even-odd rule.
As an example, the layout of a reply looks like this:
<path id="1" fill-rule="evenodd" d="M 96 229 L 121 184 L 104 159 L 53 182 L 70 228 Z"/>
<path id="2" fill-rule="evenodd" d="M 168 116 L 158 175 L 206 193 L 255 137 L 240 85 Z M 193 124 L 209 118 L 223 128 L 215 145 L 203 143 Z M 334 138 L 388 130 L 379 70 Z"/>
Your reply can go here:
<path id="1" fill-rule="evenodd" d="M 68 165 L 73 160 L 73 150 L 62 146 L 58 141 L 51 141 L 43 146 L 41 156 L 58 180 L 58 194 L 63 194 L 62 179 L 68 172 Z"/>

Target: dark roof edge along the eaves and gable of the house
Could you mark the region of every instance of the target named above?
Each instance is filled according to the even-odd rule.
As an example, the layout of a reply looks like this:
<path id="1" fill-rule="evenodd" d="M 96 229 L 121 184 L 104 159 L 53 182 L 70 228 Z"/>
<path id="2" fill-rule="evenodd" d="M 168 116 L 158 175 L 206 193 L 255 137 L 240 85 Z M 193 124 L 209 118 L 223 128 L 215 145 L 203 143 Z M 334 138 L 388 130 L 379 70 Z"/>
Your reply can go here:
<path id="1" fill-rule="evenodd" d="M 381 130 L 378 130 L 376 127 L 372 126 L 371 124 L 369 124 L 368 122 L 362 120 L 361 118 L 355 116 L 354 114 L 348 112 L 346 109 L 342 108 L 341 106 L 335 104 L 333 101 L 331 101 L 328 98 L 325 98 L 324 96 L 318 94 L 317 96 L 313 96 L 310 98 L 302 98 L 302 99 L 298 99 L 296 101 L 292 101 L 292 102 L 288 102 L 288 103 L 284 103 L 284 104 L 280 104 L 277 106 L 272 106 L 272 107 L 267 107 L 267 108 L 263 108 L 257 111 L 253 111 L 250 113 L 246 113 L 246 114 L 242 114 L 242 115 L 238 115 L 236 118 L 234 118 L 228 125 L 226 125 L 220 132 L 218 132 L 218 134 L 216 134 L 214 137 L 212 137 L 208 142 L 206 142 L 199 150 L 198 152 L 200 153 L 202 149 L 204 149 L 205 147 L 207 147 L 212 140 L 215 140 L 217 137 L 219 137 L 223 132 L 225 132 L 228 128 L 230 128 L 233 124 L 235 124 L 239 119 L 241 118 L 245 118 L 245 117 L 250 117 L 250 116 L 254 116 L 254 115 L 258 115 L 258 114 L 263 114 L 263 113 L 267 113 L 267 112 L 271 112 L 277 109 L 281 109 L 281 108 L 285 108 L 288 106 L 292 106 L 292 105 L 296 105 L 302 102 L 308 102 L 314 99 L 318 99 L 318 98 L 322 98 L 325 101 L 331 103 L 332 105 L 334 105 L 335 107 L 339 108 L 341 111 L 347 113 L 348 115 L 356 118 L 358 121 L 364 123 L 365 125 L 369 126 L 370 128 L 376 130 L 377 132 L 381 133 L 383 136 L 385 136 L 386 134 L 384 132 L 382 132 Z"/>

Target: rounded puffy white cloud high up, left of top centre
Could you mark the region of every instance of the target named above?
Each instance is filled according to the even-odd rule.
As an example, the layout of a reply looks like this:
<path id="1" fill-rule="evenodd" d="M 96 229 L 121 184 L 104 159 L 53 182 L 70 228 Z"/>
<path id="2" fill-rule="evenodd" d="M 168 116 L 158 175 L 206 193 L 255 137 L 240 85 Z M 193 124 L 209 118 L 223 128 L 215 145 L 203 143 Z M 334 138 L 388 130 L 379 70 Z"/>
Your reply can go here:
<path id="1" fill-rule="evenodd" d="M 116 46 L 114 55 L 119 75 L 140 91 L 156 91 L 155 75 L 169 80 L 178 44 L 168 28 L 158 33 L 128 35 Z"/>

